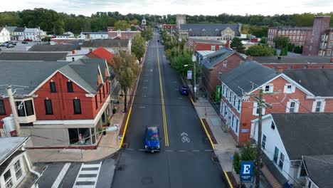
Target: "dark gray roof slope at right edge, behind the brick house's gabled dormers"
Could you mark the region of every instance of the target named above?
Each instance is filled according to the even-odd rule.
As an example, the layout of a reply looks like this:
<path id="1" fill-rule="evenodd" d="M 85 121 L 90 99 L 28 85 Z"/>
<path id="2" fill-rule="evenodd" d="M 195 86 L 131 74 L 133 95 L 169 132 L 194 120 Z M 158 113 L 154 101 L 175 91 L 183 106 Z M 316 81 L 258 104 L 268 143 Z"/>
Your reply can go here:
<path id="1" fill-rule="evenodd" d="M 333 69 L 291 69 L 283 73 L 316 96 L 333 96 Z"/>

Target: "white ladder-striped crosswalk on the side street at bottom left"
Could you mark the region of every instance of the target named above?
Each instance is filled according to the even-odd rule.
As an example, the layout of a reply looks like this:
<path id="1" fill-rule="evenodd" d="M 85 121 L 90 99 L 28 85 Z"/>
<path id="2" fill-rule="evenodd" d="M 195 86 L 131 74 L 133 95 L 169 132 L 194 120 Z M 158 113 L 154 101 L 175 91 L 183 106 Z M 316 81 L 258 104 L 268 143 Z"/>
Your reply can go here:
<path id="1" fill-rule="evenodd" d="M 99 164 L 81 164 L 73 188 L 95 188 L 102 162 Z"/>

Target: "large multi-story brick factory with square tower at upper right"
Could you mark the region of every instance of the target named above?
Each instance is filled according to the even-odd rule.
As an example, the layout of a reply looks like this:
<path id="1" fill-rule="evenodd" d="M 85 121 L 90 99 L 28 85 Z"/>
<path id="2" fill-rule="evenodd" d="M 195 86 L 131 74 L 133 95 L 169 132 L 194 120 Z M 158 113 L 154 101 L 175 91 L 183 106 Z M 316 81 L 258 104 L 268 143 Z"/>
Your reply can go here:
<path id="1" fill-rule="evenodd" d="M 330 16 L 315 16 L 312 27 L 270 27 L 268 44 L 274 46 L 275 36 L 285 36 L 290 43 L 303 46 L 305 56 L 331 56 L 333 28 L 329 28 Z"/>

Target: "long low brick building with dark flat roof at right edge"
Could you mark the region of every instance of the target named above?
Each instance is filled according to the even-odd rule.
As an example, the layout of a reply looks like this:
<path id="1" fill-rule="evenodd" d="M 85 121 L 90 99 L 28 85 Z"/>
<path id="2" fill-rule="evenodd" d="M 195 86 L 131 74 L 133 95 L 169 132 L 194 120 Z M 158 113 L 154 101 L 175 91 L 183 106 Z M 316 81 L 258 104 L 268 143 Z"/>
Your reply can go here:
<path id="1" fill-rule="evenodd" d="M 248 59 L 273 69 L 333 68 L 333 58 L 329 56 L 264 56 Z"/>

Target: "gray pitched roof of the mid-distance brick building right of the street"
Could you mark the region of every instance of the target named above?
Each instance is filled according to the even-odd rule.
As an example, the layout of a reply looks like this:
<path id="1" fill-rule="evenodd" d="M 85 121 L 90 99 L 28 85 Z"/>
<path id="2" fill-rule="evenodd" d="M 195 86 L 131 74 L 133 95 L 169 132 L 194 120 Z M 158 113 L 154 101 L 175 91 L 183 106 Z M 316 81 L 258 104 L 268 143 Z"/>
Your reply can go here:
<path id="1" fill-rule="evenodd" d="M 218 63 L 221 63 L 221 61 L 228 58 L 228 56 L 233 55 L 233 53 L 236 53 L 236 51 L 233 51 L 228 48 L 221 48 L 218 51 L 215 51 L 214 53 L 208 54 L 206 58 L 201 61 L 203 66 L 206 68 L 213 68 Z"/>

